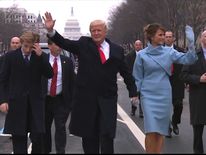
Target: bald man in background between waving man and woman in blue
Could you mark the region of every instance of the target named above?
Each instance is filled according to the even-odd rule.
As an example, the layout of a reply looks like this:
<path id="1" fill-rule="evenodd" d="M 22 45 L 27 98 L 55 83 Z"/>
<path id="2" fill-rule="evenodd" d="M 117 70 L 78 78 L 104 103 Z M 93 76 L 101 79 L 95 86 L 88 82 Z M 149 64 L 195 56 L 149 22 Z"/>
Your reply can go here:
<path id="1" fill-rule="evenodd" d="M 138 54 L 138 52 L 142 49 L 142 41 L 141 40 L 136 40 L 134 43 L 134 50 L 131 51 L 130 53 L 128 53 L 126 55 L 126 63 L 129 67 L 130 72 L 132 73 L 133 71 L 133 65 L 134 65 L 134 61 L 136 59 L 136 55 Z M 141 104 L 139 104 L 139 117 L 142 118 L 143 117 L 143 112 L 142 112 L 142 107 Z M 131 115 L 134 116 L 135 112 L 137 110 L 137 103 L 131 103 Z"/>

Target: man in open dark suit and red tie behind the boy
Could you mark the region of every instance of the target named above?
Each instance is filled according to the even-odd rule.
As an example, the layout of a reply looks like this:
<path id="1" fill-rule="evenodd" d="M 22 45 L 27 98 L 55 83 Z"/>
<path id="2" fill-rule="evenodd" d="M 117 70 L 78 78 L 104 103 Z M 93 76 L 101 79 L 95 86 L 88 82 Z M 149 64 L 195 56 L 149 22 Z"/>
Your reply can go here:
<path id="1" fill-rule="evenodd" d="M 54 59 L 57 58 L 57 82 L 56 92 L 52 94 L 52 85 L 55 76 L 52 79 L 43 80 L 43 92 L 46 95 L 45 121 L 45 153 L 51 152 L 52 136 L 51 127 L 54 121 L 55 125 L 55 148 L 57 154 L 65 154 L 66 147 L 66 122 L 71 111 L 71 102 L 74 86 L 74 67 L 70 58 L 60 55 L 62 49 L 54 42 L 48 39 L 50 54 L 48 60 L 54 65 Z M 54 71 L 55 75 L 55 71 Z M 45 89 L 46 88 L 46 89 Z"/>

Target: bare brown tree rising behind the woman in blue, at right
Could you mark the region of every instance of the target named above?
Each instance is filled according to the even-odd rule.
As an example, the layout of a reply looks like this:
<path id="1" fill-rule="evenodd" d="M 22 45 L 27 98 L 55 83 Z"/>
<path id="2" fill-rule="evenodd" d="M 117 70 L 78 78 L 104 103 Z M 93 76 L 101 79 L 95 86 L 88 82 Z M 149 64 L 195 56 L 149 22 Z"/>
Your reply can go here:
<path id="1" fill-rule="evenodd" d="M 127 0 L 111 13 L 109 37 L 119 44 L 144 41 L 143 27 L 161 23 L 174 32 L 177 44 L 186 45 L 185 25 L 193 27 L 195 40 L 205 28 L 206 0 Z"/>

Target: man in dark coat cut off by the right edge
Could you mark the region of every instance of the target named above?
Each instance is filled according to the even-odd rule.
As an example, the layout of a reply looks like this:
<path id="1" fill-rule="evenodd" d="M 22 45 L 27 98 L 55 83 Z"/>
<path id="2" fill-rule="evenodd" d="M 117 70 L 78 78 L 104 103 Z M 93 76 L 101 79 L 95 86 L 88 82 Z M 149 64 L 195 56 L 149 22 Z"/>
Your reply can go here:
<path id="1" fill-rule="evenodd" d="M 198 61 L 183 66 L 181 79 L 189 84 L 190 123 L 193 127 L 193 151 L 204 153 L 203 131 L 206 124 L 206 31 L 201 34 Z"/>

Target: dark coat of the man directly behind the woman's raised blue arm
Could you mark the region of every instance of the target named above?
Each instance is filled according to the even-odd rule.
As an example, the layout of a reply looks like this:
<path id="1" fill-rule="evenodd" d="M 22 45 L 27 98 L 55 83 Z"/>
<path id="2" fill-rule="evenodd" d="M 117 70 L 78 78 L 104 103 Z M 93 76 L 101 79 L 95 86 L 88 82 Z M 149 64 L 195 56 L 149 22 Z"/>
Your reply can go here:
<path id="1" fill-rule="evenodd" d="M 184 49 L 174 45 L 174 49 L 179 52 L 184 52 Z M 170 83 L 172 86 L 172 99 L 183 99 L 185 94 L 185 84 L 180 79 L 180 73 L 182 71 L 182 64 L 173 64 L 174 72 L 170 76 Z"/>

